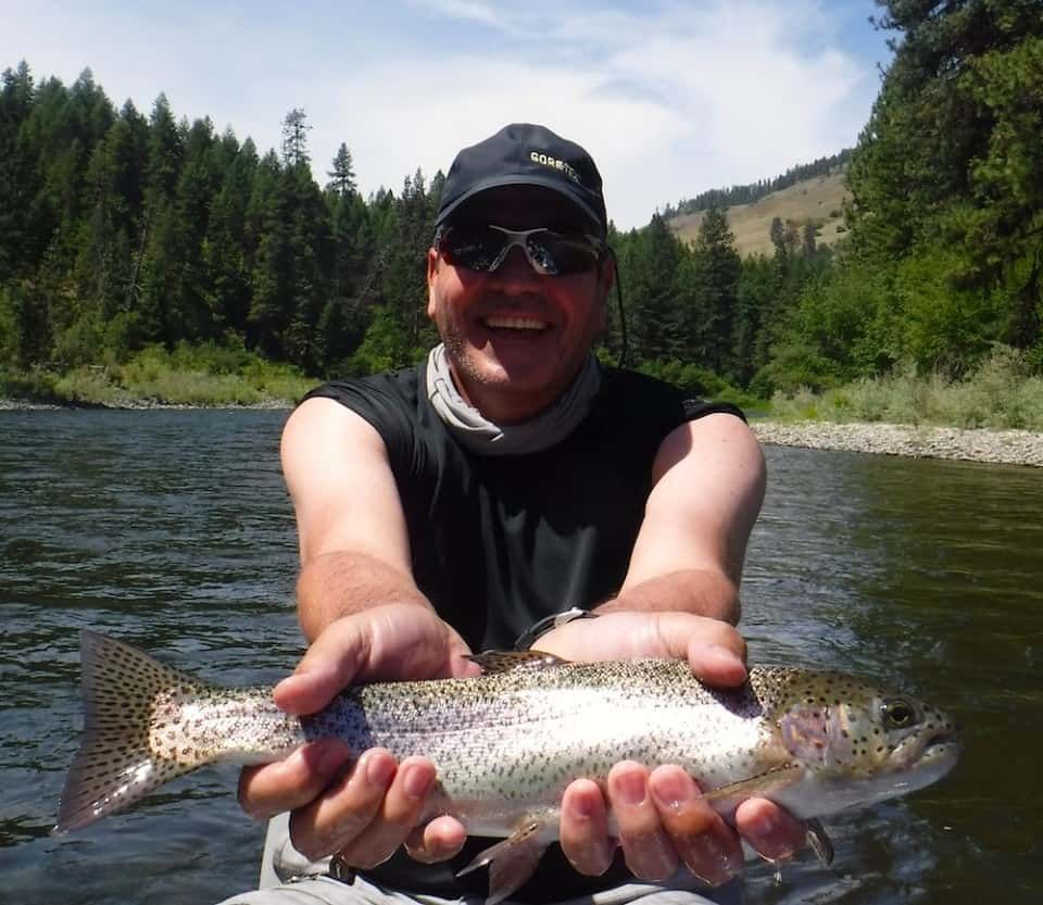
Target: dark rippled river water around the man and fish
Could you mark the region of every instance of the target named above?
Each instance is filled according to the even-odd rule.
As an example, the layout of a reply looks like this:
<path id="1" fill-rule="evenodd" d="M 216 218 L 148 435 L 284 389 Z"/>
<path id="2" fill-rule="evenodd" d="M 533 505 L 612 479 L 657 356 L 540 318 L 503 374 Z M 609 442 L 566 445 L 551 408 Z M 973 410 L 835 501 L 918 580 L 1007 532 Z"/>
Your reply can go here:
<path id="1" fill-rule="evenodd" d="M 237 771 L 50 835 L 80 725 L 81 628 L 228 683 L 302 651 L 285 412 L 0 412 L 0 903 L 205 903 L 256 883 Z M 743 585 L 754 662 L 880 677 L 952 709 L 941 783 L 826 821 L 749 903 L 1043 902 L 1043 474 L 767 450 Z"/>

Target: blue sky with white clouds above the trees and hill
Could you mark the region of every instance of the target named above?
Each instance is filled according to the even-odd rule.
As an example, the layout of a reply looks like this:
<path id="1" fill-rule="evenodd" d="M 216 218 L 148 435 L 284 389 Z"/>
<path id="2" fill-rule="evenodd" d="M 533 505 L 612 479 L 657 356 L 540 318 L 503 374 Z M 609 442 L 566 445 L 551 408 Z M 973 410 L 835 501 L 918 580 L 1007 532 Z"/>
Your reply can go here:
<path id="1" fill-rule="evenodd" d="M 209 115 L 257 147 L 302 108 L 316 178 L 340 142 L 360 188 L 511 122 L 579 141 L 629 228 L 707 188 L 771 177 L 852 146 L 890 52 L 872 0 L 379 0 L 42 4 L 0 0 L 0 68 L 72 83 L 89 66 L 117 104 Z"/>

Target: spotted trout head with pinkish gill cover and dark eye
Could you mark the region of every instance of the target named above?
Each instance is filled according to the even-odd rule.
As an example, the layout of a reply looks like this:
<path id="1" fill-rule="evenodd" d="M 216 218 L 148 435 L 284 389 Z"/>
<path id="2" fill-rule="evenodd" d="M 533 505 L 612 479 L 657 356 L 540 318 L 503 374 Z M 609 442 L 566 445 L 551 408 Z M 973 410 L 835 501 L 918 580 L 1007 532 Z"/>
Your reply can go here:
<path id="1" fill-rule="evenodd" d="M 828 810 L 922 789 L 959 758 L 956 724 L 918 699 L 851 676 L 778 670 L 769 695 L 777 742 L 805 768 Z"/>

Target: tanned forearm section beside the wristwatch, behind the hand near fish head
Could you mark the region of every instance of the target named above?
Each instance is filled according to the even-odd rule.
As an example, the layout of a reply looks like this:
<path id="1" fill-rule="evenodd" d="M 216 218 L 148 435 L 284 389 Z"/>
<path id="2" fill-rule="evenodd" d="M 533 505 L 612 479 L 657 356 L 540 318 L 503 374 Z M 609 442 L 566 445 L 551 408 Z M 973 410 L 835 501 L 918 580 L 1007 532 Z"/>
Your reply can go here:
<path id="1" fill-rule="evenodd" d="M 718 571 L 682 569 L 625 588 L 595 607 L 598 613 L 620 611 L 693 613 L 736 625 L 740 615 L 739 591 Z"/>

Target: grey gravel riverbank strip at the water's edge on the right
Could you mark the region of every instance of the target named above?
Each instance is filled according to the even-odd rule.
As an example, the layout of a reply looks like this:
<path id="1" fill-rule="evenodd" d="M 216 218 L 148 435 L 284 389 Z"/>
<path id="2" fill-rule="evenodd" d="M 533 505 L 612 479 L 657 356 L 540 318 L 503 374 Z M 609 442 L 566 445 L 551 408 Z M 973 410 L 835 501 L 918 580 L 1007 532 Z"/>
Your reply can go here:
<path id="1" fill-rule="evenodd" d="M 767 445 L 1043 467 L 1043 433 L 896 424 L 753 420 Z"/>

